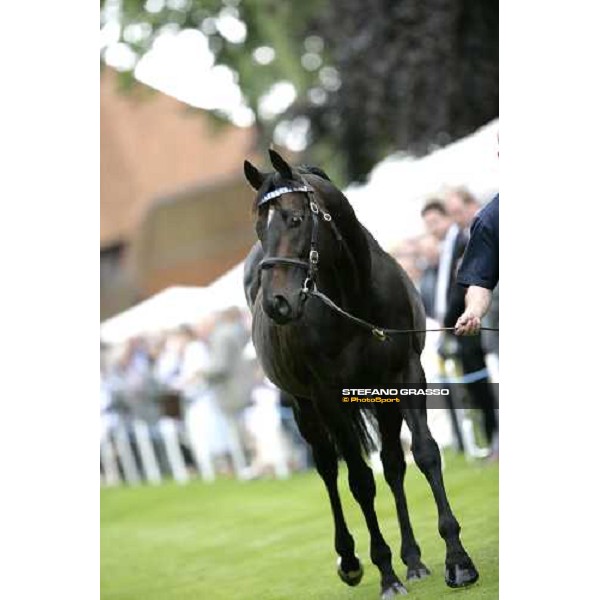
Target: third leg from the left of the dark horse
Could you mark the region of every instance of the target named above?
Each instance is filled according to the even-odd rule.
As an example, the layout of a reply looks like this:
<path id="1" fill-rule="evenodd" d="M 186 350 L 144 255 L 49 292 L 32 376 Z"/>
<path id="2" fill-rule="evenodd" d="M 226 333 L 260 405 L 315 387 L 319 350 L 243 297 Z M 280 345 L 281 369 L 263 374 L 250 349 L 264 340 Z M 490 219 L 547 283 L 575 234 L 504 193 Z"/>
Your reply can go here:
<path id="1" fill-rule="evenodd" d="M 396 512 L 402 543 L 400 558 L 406 565 L 406 579 L 423 579 L 429 575 L 429 569 L 421 562 L 421 548 L 415 540 L 415 535 L 408 515 L 408 505 L 404 492 L 404 475 L 406 461 L 400 444 L 400 429 L 402 427 L 402 412 L 396 406 L 384 405 L 377 415 L 379 432 L 381 434 L 381 462 L 383 474 L 396 501 Z"/>

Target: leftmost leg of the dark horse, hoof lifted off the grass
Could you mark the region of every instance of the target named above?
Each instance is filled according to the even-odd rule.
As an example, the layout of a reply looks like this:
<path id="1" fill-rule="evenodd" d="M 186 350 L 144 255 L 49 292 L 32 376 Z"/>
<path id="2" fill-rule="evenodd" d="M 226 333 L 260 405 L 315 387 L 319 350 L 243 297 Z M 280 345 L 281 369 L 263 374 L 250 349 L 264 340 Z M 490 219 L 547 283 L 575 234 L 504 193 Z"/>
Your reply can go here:
<path id="1" fill-rule="evenodd" d="M 344 518 L 337 487 L 338 459 L 335 447 L 310 400 L 299 400 L 294 408 L 294 416 L 302 437 L 312 448 L 315 467 L 329 495 L 335 527 L 334 545 L 338 553 L 338 575 L 344 583 L 351 586 L 358 585 L 363 576 L 363 567 L 354 553 L 354 538 Z"/>

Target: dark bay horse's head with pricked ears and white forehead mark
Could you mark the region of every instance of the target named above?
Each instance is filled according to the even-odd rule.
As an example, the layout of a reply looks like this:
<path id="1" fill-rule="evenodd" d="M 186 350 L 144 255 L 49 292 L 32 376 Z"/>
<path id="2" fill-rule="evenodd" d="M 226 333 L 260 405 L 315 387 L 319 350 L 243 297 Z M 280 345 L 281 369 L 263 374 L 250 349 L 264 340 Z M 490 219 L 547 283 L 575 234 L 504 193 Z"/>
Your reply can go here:
<path id="1" fill-rule="evenodd" d="M 302 316 L 307 286 L 316 275 L 317 217 L 323 213 L 314 212 L 313 188 L 302 173 L 277 152 L 269 155 L 275 172 L 261 173 L 245 161 L 244 173 L 257 191 L 256 233 L 265 256 L 260 264 L 263 309 L 283 325 Z"/>

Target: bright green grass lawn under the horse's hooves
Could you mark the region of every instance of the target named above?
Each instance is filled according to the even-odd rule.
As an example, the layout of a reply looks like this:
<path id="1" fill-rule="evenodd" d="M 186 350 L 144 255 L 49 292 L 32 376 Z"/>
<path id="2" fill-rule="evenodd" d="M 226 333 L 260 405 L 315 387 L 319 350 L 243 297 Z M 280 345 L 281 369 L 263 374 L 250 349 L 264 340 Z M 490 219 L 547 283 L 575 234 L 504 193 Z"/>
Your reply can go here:
<path id="1" fill-rule="evenodd" d="M 498 598 L 498 467 L 446 455 L 446 488 L 462 540 L 480 572 L 464 590 L 444 584 L 444 544 L 425 478 L 409 465 L 406 489 L 413 529 L 432 571 L 406 584 L 392 495 L 377 477 L 377 512 L 394 566 L 413 600 Z M 315 472 L 287 481 L 101 491 L 101 586 L 104 600 L 377 600 L 379 577 L 369 560 L 362 513 L 340 477 L 348 526 L 365 565 L 358 587 L 335 572 L 333 523 Z"/>

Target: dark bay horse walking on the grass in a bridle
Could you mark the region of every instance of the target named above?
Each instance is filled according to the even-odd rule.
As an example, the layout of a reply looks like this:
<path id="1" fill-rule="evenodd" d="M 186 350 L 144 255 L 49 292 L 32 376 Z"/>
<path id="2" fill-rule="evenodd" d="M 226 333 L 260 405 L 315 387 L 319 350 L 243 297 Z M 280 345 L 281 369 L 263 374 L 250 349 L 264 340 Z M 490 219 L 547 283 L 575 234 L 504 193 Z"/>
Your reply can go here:
<path id="1" fill-rule="evenodd" d="M 257 191 L 259 242 L 246 259 L 244 273 L 253 313 L 252 337 L 269 379 L 295 399 L 298 427 L 312 448 L 329 495 L 338 575 L 348 585 L 357 585 L 363 575 L 338 493 L 341 455 L 370 533 L 371 560 L 381 574 L 381 597 L 388 600 L 407 593 L 394 572 L 392 553 L 375 513 L 375 481 L 364 459 L 372 442 L 373 428 L 366 424 L 369 417 L 378 431 L 384 476 L 396 502 L 400 557 L 407 566 L 407 579 L 421 579 L 429 570 L 421 561 L 404 492 L 403 421 L 412 433 L 415 462 L 437 505 L 438 528 L 446 543 L 446 583 L 450 587 L 472 584 L 479 575 L 460 541 L 460 526 L 448 502 L 424 396 L 407 396 L 410 400 L 401 404 L 361 405 L 367 409 L 342 403 L 342 388 L 356 383 L 424 384 L 420 361 L 424 333 L 378 339 L 311 291 L 318 289 L 344 311 L 387 328 L 424 329 L 421 299 L 403 269 L 359 223 L 346 197 L 323 171 L 292 168 L 272 150 L 270 158 L 273 173 L 261 173 L 244 163 L 246 179 Z"/>

